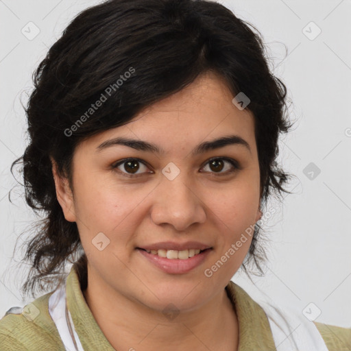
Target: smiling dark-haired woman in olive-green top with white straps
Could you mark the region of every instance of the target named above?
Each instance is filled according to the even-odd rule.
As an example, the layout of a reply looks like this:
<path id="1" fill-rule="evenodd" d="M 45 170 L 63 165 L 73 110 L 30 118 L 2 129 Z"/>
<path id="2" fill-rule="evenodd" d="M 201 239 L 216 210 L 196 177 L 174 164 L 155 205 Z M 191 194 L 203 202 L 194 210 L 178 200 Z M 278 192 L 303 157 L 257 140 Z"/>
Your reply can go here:
<path id="1" fill-rule="evenodd" d="M 213 1 L 106 1 L 34 84 L 23 171 L 47 217 L 23 290 L 55 289 L 8 311 L 1 350 L 351 350 L 351 330 L 230 281 L 262 272 L 263 206 L 289 178 L 286 88 L 243 21 Z"/>

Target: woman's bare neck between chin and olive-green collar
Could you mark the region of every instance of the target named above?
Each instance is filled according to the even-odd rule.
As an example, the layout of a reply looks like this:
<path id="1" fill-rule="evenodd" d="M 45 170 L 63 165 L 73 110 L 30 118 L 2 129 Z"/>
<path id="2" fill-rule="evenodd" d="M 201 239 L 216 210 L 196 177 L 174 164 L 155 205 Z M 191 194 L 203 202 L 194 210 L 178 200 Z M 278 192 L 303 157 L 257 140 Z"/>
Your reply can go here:
<path id="1" fill-rule="evenodd" d="M 88 269 L 89 272 L 89 269 Z M 89 275 L 88 275 L 89 276 Z M 90 276 L 89 276 L 90 278 Z M 166 319 L 162 312 L 88 279 L 84 298 L 99 328 L 115 350 L 165 349 L 237 351 L 239 324 L 232 302 L 223 289 L 200 308 Z M 101 296 L 104 295 L 104 299 Z"/>

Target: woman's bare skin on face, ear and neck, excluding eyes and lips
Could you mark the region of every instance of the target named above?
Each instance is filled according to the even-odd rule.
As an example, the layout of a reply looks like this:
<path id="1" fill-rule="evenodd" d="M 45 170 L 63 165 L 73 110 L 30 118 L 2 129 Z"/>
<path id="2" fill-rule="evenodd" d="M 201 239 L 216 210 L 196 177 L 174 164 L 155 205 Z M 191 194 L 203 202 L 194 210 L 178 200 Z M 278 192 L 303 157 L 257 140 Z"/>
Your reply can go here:
<path id="1" fill-rule="evenodd" d="M 237 315 L 224 289 L 252 237 L 213 276 L 204 275 L 262 215 L 254 117 L 234 106 L 232 98 L 219 75 L 206 73 L 145 108 L 130 123 L 89 137 L 75 149 L 73 191 L 53 161 L 58 201 L 66 220 L 77 222 L 88 256 L 86 302 L 117 350 L 162 350 L 165 341 L 169 351 L 238 349 Z M 199 143 L 228 134 L 245 139 L 251 152 L 227 145 L 191 156 Z M 154 143 L 165 154 L 123 145 L 96 152 L 98 145 L 117 136 Z M 241 169 L 225 162 L 216 171 L 208 162 L 214 157 L 237 160 Z M 112 169 L 123 158 L 145 161 L 138 163 L 141 176 L 123 175 L 131 172 L 125 163 L 119 171 Z M 161 172 L 169 162 L 180 169 L 174 180 Z M 110 240 L 101 251 L 92 243 L 99 232 Z M 186 274 L 167 274 L 135 249 L 191 240 L 213 250 Z M 179 311 L 173 320 L 162 313 L 170 303 Z"/>

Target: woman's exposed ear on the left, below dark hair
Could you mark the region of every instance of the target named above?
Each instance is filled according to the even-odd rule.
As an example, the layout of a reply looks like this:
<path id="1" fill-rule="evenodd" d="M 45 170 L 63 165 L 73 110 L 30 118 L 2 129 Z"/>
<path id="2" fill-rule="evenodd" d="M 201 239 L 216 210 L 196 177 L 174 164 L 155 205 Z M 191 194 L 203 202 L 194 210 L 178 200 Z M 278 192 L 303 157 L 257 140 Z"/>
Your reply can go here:
<path id="1" fill-rule="evenodd" d="M 53 180 L 55 181 L 56 197 L 64 213 L 66 221 L 75 222 L 75 207 L 73 202 L 73 193 L 69 186 L 69 180 L 58 174 L 57 164 L 53 158 L 50 157 L 52 163 Z"/>

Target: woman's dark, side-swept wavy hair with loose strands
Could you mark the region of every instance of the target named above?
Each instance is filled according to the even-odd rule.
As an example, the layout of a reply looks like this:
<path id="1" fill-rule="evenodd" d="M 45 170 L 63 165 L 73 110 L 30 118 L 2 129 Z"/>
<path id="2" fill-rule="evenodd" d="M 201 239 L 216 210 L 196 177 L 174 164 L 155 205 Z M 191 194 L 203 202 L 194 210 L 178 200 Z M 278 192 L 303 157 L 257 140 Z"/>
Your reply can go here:
<path id="1" fill-rule="evenodd" d="M 207 71 L 221 75 L 233 97 L 243 92 L 251 100 L 247 109 L 255 119 L 261 208 L 270 195 L 289 193 L 282 186 L 291 175 L 276 162 L 279 134 L 292 126 L 287 88 L 269 70 L 261 34 L 249 25 L 214 1 L 109 0 L 84 10 L 64 29 L 34 73 L 25 108 L 29 145 L 12 163 L 22 160 L 26 202 L 44 213 L 26 243 L 24 260 L 32 268 L 25 293 L 34 296 L 36 284 L 39 291 L 52 287 L 68 261 L 80 258 L 86 268 L 77 225 L 66 221 L 56 198 L 50 157 L 71 184 L 78 143 L 123 125 Z M 108 87 L 108 99 L 87 115 Z M 84 123 L 77 126 L 78 119 Z M 256 224 L 243 263 L 246 273 L 251 261 L 263 273 L 260 263 L 267 256 L 258 245 L 261 229 Z"/>

